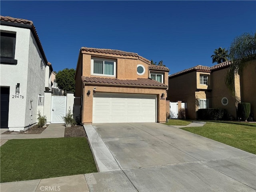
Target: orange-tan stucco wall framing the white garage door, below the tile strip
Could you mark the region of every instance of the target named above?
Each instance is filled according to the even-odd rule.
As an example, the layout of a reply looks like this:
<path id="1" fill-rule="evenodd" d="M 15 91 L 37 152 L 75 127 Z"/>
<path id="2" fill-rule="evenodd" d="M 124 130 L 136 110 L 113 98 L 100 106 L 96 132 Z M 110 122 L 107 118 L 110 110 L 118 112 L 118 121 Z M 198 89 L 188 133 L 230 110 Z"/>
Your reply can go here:
<path id="1" fill-rule="evenodd" d="M 97 92 L 106 93 L 129 93 L 129 94 L 155 94 L 157 95 L 157 122 L 166 122 L 166 100 L 160 100 L 160 96 L 165 90 L 161 89 L 148 89 L 148 88 L 127 88 L 127 87 L 107 87 L 107 86 L 85 86 L 84 88 L 84 105 L 82 111 L 82 123 L 92 123 L 92 100 L 93 88 L 96 87 Z M 86 95 L 88 90 L 91 91 L 89 96 Z"/>

